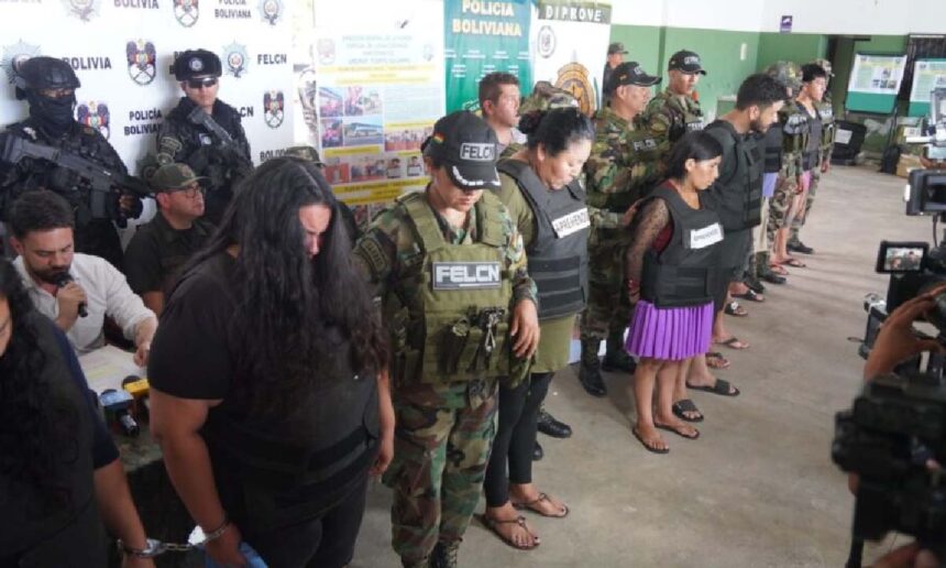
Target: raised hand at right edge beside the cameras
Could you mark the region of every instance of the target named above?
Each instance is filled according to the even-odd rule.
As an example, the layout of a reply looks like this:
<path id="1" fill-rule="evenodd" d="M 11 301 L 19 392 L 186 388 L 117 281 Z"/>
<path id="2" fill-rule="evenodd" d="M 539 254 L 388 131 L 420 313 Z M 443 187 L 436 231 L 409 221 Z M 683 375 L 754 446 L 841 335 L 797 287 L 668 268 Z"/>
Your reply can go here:
<path id="1" fill-rule="evenodd" d="M 946 353 L 935 339 L 920 339 L 913 332 L 913 323 L 934 306 L 934 298 L 942 292 L 946 292 L 946 285 L 904 302 L 887 316 L 864 365 L 865 379 L 889 373 L 898 363 L 923 351 Z"/>

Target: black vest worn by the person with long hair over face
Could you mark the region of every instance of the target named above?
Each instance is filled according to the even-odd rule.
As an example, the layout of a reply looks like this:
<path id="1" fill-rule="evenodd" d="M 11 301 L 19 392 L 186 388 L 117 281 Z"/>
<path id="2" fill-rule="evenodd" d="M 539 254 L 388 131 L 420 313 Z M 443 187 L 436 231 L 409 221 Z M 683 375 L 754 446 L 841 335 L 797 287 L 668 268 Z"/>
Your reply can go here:
<path id="1" fill-rule="evenodd" d="M 331 378 L 300 395 L 298 412 L 246 417 L 231 413 L 224 401 L 201 432 L 215 469 L 235 472 L 239 480 L 244 534 L 323 515 L 364 480 L 377 455 L 376 378 L 352 370 L 351 343 L 338 328 L 327 326 L 323 335 L 339 357 L 320 371 Z"/>

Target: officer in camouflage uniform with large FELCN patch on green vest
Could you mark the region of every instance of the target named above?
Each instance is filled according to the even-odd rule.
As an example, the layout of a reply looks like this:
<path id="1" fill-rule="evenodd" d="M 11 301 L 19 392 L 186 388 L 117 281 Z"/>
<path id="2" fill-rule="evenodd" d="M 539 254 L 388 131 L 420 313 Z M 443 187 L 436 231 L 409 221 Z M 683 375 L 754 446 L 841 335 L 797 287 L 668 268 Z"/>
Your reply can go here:
<path id="1" fill-rule="evenodd" d="M 499 187 L 493 130 L 443 117 L 424 160 L 430 185 L 382 212 L 353 258 L 392 338 L 393 546 L 404 566 L 452 567 L 480 501 L 497 380 L 538 346 L 537 290 L 521 236 L 484 192 Z"/>

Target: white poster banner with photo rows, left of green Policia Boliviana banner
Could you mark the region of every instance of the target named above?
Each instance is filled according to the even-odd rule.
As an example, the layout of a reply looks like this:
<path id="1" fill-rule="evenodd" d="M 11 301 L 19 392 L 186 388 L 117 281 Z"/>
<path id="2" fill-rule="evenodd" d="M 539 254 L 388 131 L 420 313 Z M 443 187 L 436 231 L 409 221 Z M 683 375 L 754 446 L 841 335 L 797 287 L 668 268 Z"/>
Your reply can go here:
<path id="1" fill-rule="evenodd" d="M 427 185 L 420 144 L 443 116 L 443 7 L 316 0 L 315 19 L 314 103 L 326 177 L 349 205 L 371 204 L 356 209 L 371 216 Z"/>

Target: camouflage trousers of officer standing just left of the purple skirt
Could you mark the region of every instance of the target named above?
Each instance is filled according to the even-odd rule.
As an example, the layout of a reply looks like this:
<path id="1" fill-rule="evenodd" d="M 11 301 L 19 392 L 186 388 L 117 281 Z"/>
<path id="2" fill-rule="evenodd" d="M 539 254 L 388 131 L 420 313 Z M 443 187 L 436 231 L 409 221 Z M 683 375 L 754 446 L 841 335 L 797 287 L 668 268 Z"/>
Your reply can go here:
<path id="1" fill-rule="evenodd" d="M 617 230 L 598 230 L 588 240 L 588 301 L 581 317 L 583 339 L 606 339 L 609 332 L 623 334 L 630 321 L 631 306 L 624 274 L 628 243 L 617 234 Z"/>

